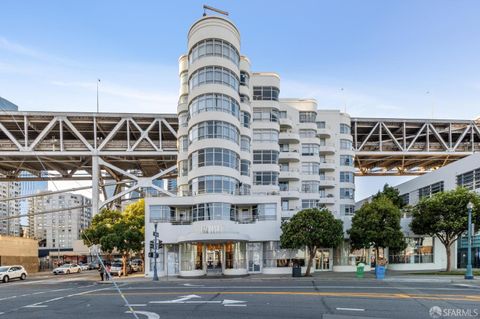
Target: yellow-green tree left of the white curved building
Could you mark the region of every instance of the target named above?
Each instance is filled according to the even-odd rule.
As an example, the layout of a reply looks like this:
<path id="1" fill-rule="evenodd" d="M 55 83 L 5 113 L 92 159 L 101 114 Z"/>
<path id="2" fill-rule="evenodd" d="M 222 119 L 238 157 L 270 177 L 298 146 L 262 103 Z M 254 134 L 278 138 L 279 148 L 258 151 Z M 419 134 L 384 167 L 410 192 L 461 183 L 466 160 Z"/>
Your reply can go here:
<path id="1" fill-rule="evenodd" d="M 131 253 L 141 252 L 145 234 L 145 202 L 139 200 L 123 212 L 104 209 L 97 214 L 82 238 L 86 245 L 100 245 L 102 250 L 122 255 L 123 273 L 127 274 L 127 261 Z"/>

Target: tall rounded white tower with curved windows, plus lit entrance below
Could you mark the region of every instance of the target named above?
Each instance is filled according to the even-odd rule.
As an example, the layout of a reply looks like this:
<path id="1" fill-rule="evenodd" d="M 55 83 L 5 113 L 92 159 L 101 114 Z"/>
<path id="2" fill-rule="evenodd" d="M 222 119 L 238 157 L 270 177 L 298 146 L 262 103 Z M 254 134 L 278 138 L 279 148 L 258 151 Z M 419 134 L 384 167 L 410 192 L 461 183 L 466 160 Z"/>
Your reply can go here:
<path id="1" fill-rule="evenodd" d="M 232 198 L 249 195 L 252 185 L 250 62 L 240 55 L 235 25 L 219 16 L 196 21 L 179 72 L 178 195 L 194 199 L 192 222 L 209 232 L 237 221 Z M 200 275 L 205 266 L 197 264 L 208 268 L 217 259 L 235 264 L 224 265 L 225 274 L 244 274 L 245 249 L 241 240 L 186 241 L 180 255 L 189 258 L 181 262 L 180 274 Z"/>

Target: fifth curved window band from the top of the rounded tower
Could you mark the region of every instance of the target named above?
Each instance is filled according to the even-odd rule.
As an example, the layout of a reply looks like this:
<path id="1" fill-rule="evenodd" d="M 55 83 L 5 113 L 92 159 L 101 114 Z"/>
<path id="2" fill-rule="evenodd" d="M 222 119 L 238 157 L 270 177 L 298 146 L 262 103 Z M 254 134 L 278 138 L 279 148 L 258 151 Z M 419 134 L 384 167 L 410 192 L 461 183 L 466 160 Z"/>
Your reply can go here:
<path id="1" fill-rule="evenodd" d="M 190 170 L 204 166 L 224 166 L 238 170 L 240 156 L 225 148 L 204 148 L 188 156 Z"/>

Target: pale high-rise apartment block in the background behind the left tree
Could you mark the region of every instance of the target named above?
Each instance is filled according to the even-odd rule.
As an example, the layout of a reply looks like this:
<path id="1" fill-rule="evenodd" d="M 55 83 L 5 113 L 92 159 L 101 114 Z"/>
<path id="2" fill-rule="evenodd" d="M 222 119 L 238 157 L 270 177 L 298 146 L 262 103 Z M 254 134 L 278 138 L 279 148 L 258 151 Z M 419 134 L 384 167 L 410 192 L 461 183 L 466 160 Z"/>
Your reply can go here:
<path id="1" fill-rule="evenodd" d="M 81 230 L 92 221 L 91 200 L 78 194 L 49 194 L 29 198 L 29 237 L 44 241 L 45 248 L 72 248 L 81 239 Z M 89 206 L 49 214 L 37 212 L 67 207 Z"/>

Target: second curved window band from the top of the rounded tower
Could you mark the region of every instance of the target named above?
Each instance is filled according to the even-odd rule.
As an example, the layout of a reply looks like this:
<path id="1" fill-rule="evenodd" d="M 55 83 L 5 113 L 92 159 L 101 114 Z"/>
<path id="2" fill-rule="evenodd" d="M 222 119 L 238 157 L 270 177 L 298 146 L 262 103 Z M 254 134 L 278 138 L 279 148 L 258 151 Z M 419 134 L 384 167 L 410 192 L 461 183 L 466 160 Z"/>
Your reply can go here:
<path id="1" fill-rule="evenodd" d="M 198 69 L 190 77 L 190 90 L 204 84 L 223 84 L 238 91 L 239 80 L 235 73 L 221 66 L 206 66 Z"/>

